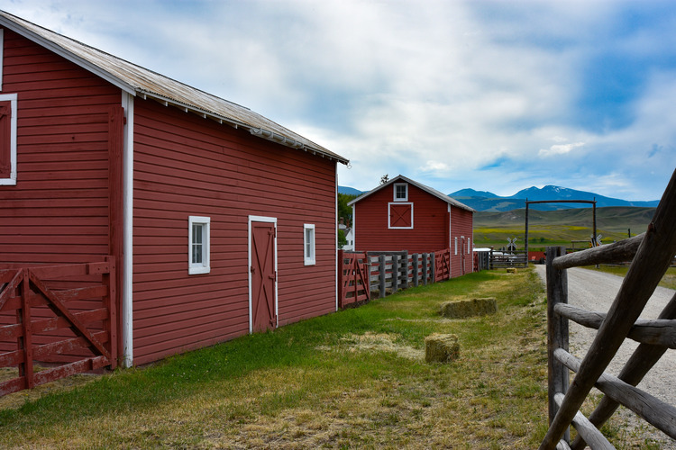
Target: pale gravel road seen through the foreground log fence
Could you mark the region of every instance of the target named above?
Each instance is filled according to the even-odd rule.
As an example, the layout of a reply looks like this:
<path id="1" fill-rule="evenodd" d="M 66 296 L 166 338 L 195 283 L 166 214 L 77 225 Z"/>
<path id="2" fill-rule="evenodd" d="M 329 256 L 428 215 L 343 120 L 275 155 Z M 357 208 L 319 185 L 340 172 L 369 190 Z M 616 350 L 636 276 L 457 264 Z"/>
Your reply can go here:
<path id="1" fill-rule="evenodd" d="M 535 266 L 540 275 L 545 280 L 545 266 Z M 607 312 L 610 305 L 615 300 L 623 278 L 617 275 L 605 274 L 593 270 L 580 268 L 568 269 L 568 302 L 573 306 L 584 308 L 587 311 Z M 650 301 L 645 305 L 641 313 L 641 319 L 657 319 L 664 306 L 671 300 L 672 289 L 658 287 L 653 293 Z M 570 348 L 571 354 L 580 358 L 584 357 L 596 337 L 596 329 L 587 329 L 575 322 L 570 322 Z M 607 374 L 619 374 L 626 361 L 634 352 L 638 344 L 626 339 L 622 347 L 617 351 L 617 355 L 606 368 Z M 638 387 L 649 392 L 654 397 L 666 401 L 671 405 L 676 405 L 676 350 L 667 350 L 660 361 L 645 375 L 643 381 Z M 617 413 L 616 413 L 617 414 Z M 627 420 L 627 429 L 644 438 L 651 438 L 659 441 L 662 448 L 676 449 L 676 440 L 664 435 L 661 431 L 645 424 L 635 417 L 635 414 L 624 408 L 619 410 L 619 414 Z"/>

